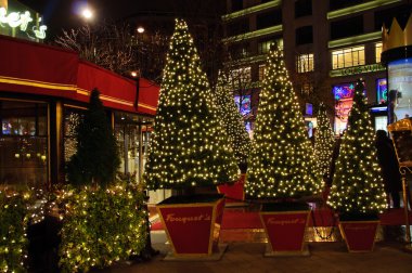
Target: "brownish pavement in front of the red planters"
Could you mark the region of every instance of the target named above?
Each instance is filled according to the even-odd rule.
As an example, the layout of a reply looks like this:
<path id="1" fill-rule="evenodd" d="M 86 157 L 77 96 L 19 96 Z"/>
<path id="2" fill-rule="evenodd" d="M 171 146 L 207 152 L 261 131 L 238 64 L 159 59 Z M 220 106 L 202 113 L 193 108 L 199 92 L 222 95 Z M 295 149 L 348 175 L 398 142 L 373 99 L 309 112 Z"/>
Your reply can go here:
<path id="1" fill-rule="evenodd" d="M 152 233 L 160 253 L 151 261 L 116 265 L 103 272 L 243 273 L 243 272 L 412 272 L 412 253 L 398 242 L 379 242 L 369 253 L 349 253 L 344 242 L 310 243 L 310 257 L 263 258 L 263 243 L 230 243 L 220 261 L 163 261 L 169 250 L 164 232 Z"/>

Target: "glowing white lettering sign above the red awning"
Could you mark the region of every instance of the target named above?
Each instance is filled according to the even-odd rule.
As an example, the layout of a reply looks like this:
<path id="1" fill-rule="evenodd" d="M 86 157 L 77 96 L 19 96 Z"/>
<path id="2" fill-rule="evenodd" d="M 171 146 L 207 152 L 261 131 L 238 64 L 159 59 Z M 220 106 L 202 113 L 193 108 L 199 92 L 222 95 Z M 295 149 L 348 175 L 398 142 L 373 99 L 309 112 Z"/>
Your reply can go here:
<path id="1" fill-rule="evenodd" d="M 0 27 L 11 27 L 13 29 L 20 28 L 20 30 L 27 34 L 28 37 L 34 38 L 30 36 L 30 32 L 38 38 L 38 39 L 44 39 L 46 38 L 46 30 L 48 29 L 47 26 L 40 25 L 41 17 L 38 18 L 38 21 L 29 28 L 31 22 L 34 22 L 30 12 L 11 12 L 8 14 L 8 11 L 5 8 L 0 8 Z M 38 26 L 37 26 L 38 25 Z"/>

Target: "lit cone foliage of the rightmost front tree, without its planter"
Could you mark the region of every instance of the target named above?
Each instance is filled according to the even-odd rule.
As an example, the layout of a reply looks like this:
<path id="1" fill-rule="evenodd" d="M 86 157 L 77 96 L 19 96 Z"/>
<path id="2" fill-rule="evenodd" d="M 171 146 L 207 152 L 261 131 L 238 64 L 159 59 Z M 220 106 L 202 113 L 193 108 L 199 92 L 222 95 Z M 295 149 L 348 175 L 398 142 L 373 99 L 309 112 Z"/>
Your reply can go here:
<path id="1" fill-rule="evenodd" d="M 374 145 L 375 133 L 358 80 L 348 128 L 343 136 L 327 204 L 342 216 L 376 214 L 386 208 L 381 168 Z"/>

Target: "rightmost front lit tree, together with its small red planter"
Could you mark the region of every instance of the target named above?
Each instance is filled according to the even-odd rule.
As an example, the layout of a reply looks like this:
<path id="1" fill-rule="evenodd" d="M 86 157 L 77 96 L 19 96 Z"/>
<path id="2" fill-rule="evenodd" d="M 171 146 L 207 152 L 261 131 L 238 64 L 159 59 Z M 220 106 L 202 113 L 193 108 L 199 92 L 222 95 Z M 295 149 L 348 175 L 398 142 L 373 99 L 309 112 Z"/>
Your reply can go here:
<path id="1" fill-rule="evenodd" d="M 349 251 L 373 249 L 378 212 L 386 208 L 375 132 L 363 90 L 358 80 L 327 200 L 339 212 L 339 227 Z"/>

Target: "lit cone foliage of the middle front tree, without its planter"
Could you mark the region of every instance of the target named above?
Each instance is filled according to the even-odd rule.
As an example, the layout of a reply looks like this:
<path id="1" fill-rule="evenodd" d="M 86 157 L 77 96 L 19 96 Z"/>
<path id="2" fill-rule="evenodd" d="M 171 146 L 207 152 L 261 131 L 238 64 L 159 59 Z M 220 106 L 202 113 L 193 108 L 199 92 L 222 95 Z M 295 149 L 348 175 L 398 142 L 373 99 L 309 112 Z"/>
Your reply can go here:
<path id="1" fill-rule="evenodd" d="M 266 67 L 246 194 L 258 198 L 310 195 L 320 179 L 282 51 L 272 49 Z"/>

